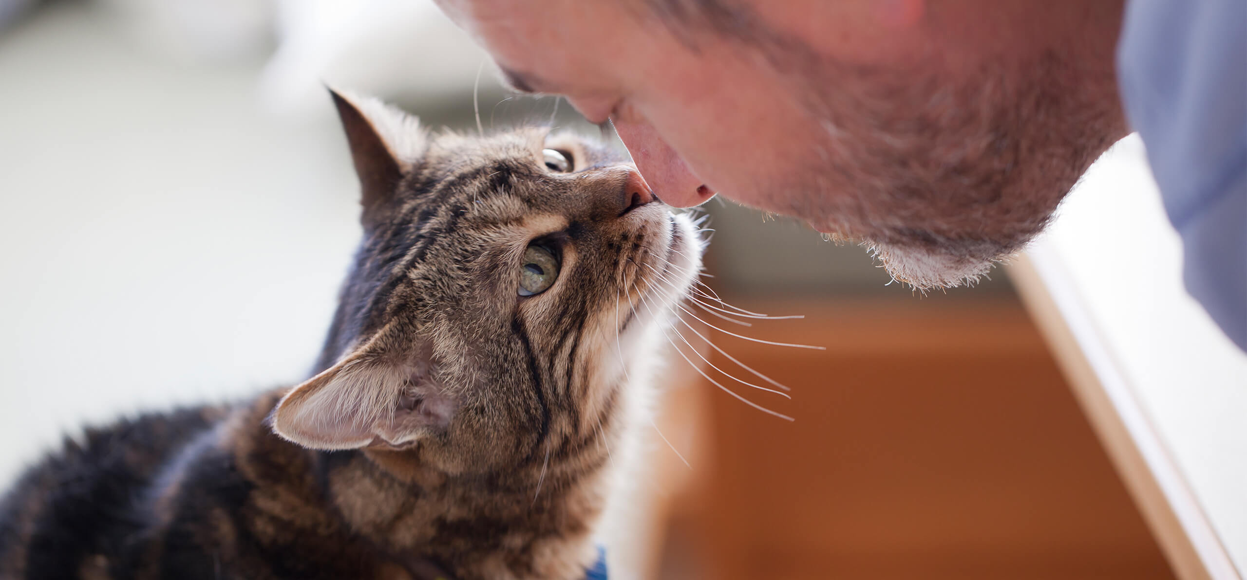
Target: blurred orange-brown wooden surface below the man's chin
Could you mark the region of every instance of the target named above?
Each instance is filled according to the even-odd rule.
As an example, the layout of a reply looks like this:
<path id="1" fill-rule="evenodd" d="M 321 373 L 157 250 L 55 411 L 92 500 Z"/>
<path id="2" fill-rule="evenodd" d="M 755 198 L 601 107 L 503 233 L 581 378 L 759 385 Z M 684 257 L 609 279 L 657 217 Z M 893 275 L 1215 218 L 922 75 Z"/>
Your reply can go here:
<path id="1" fill-rule="evenodd" d="M 751 336 L 827 350 L 716 337 L 793 387 L 746 395 L 797 421 L 701 381 L 707 457 L 667 578 L 1173 578 L 1016 302 L 742 306 L 808 316 Z"/>

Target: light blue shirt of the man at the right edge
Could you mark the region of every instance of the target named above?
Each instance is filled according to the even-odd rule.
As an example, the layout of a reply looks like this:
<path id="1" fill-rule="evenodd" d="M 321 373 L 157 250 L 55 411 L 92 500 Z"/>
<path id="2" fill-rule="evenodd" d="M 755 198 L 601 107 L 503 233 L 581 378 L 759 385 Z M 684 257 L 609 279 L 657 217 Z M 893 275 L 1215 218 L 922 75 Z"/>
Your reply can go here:
<path id="1" fill-rule="evenodd" d="M 1247 0 L 1130 0 L 1117 81 L 1186 289 L 1247 351 Z"/>

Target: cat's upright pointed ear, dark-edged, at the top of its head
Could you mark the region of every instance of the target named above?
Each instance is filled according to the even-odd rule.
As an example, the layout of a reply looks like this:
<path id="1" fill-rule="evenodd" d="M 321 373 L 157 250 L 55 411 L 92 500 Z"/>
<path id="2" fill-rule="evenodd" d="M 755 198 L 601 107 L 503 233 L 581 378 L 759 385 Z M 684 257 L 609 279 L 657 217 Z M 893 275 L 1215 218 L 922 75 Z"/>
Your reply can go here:
<path id="1" fill-rule="evenodd" d="M 350 144 L 367 223 L 393 199 L 403 174 L 419 164 L 428 138 L 420 119 L 382 101 L 333 88 L 329 96 Z"/>

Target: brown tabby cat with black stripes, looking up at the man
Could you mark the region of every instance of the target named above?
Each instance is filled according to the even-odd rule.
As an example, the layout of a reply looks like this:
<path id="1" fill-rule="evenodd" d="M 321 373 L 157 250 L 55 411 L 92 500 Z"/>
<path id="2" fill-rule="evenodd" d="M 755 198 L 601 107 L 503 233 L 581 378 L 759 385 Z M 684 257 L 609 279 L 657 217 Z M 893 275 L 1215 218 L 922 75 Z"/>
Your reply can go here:
<path id="1" fill-rule="evenodd" d="M 317 373 L 87 429 L 0 504 L 2 579 L 580 579 L 688 218 L 604 146 L 332 95 L 364 239 Z M 616 453 L 619 453 L 616 451 Z M 622 465 L 620 467 L 622 468 Z"/>

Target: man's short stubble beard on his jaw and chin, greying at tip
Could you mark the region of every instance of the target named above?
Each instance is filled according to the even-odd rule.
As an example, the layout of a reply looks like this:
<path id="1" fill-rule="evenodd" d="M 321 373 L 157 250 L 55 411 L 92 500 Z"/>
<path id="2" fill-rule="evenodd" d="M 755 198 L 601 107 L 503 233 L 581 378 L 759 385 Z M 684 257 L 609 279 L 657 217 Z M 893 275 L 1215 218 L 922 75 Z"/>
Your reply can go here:
<path id="1" fill-rule="evenodd" d="M 824 62 L 803 83 L 818 146 L 778 209 L 862 244 L 917 290 L 974 284 L 1044 229 L 1114 141 L 1111 112 L 1071 71 L 1055 54 L 956 83 Z"/>

